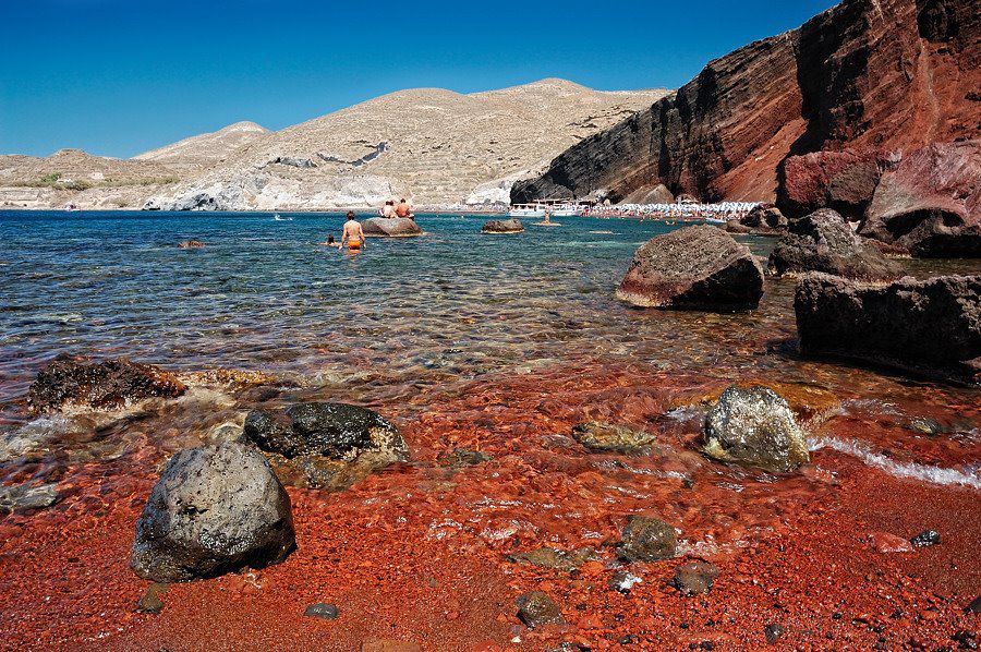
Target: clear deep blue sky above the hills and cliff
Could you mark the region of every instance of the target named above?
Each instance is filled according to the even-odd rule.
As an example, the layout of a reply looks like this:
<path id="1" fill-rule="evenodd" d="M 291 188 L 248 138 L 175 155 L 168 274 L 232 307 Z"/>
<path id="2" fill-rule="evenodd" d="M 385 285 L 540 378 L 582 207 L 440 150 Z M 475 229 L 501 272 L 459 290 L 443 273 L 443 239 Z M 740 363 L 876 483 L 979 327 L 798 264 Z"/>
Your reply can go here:
<path id="1" fill-rule="evenodd" d="M 132 156 L 400 88 L 677 87 L 833 0 L 0 0 L 0 153 Z"/>

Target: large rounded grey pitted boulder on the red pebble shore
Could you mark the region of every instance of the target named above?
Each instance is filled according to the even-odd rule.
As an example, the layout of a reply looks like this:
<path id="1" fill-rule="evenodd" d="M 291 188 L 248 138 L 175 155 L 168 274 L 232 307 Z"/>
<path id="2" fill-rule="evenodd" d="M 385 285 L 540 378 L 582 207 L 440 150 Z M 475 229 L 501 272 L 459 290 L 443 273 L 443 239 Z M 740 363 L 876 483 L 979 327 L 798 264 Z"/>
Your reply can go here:
<path id="1" fill-rule="evenodd" d="M 278 564 L 295 547 L 290 497 L 251 446 L 182 450 L 136 521 L 130 565 L 142 578 L 187 581 Z"/>

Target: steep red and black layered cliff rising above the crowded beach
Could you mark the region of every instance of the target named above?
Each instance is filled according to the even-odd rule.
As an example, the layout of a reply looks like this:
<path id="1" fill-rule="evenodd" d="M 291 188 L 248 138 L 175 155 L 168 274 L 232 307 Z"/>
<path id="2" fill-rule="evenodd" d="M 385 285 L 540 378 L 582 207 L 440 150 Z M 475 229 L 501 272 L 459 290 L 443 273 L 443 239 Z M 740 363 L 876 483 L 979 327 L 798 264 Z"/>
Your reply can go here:
<path id="1" fill-rule="evenodd" d="M 772 201 L 790 155 L 981 134 L 981 1 L 845 0 L 712 61 L 676 94 L 518 183 L 512 198 L 626 197 L 665 183 Z"/>

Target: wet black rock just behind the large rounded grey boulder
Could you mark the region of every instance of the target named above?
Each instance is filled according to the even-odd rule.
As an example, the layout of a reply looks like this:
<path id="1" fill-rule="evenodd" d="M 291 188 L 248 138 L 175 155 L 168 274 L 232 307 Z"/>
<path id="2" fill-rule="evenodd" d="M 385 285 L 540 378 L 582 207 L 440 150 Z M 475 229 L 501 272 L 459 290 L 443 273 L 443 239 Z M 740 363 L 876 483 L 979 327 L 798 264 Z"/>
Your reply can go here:
<path id="1" fill-rule="evenodd" d="M 245 438 L 287 484 L 340 491 L 367 474 L 409 460 L 402 435 L 377 412 L 344 403 L 298 403 L 282 412 L 253 410 Z"/>

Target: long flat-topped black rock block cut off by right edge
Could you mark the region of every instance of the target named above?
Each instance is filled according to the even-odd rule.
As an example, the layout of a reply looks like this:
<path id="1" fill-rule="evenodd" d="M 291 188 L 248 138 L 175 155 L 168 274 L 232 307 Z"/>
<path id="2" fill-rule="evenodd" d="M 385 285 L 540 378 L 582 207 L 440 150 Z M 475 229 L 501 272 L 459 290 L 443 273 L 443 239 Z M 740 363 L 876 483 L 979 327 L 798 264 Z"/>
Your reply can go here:
<path id="1" fill-rule="evenodd" d="M 883 287 L 809 274 L 794 300 L 800 350 L 978 383 L 979 295 L 981 276 L 906 277 Z"/>

